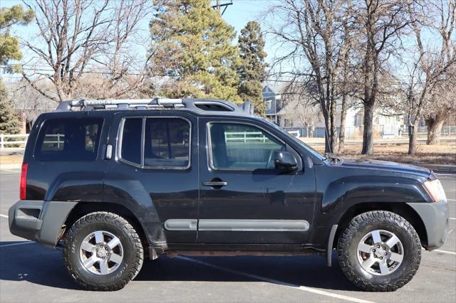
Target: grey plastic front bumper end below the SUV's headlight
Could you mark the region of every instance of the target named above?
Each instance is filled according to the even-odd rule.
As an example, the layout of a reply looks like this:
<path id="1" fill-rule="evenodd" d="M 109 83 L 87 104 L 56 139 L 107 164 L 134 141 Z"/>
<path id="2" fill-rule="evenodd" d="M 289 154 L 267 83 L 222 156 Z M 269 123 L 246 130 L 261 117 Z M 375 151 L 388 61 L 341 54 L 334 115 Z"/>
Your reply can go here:
<path id="1" fill-rule="evenodd" d="M 447 240 L 450 225 L 448 203 L 440 201 L 437 203 L 407 203 L 420 216 L 423 221 L 426 234 L 426 250 L 436 250 Z"/>

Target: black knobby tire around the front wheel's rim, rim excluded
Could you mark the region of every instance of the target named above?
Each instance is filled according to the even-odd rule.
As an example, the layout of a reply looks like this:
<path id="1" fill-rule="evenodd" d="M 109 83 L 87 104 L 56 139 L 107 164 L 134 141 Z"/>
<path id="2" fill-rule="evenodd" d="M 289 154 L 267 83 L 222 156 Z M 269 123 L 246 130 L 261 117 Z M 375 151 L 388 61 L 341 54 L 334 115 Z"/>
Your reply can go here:
<path id="1" fill-rule="evenodd" d="M 372 275 L 358 261 L 358 242 L 370 231 L 381 229 L 394 233 L 402 242 L 404 257 L 397 270 L 388 275 Z M 354 285 L 369 292 L 393 292 L 412 280 L 420 266 L 421 243 L 407 220 L 389 211 L 369 211 L 351 220 L 338 240 L 338 262 Z"/>

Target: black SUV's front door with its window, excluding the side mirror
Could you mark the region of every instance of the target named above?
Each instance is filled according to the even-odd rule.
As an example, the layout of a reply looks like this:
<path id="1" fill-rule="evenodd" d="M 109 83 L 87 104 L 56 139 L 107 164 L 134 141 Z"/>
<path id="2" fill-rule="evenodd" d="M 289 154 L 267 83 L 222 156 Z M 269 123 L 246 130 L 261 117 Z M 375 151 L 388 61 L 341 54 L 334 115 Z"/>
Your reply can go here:
<path id="1" fill-rule="evenodd" d="M 251 119 L 199 119 L 199 243 L 300 244 L 314 216 L 314 171 Z M 274 151 L 290 151 L 298 171 L 274 168 Z"/>

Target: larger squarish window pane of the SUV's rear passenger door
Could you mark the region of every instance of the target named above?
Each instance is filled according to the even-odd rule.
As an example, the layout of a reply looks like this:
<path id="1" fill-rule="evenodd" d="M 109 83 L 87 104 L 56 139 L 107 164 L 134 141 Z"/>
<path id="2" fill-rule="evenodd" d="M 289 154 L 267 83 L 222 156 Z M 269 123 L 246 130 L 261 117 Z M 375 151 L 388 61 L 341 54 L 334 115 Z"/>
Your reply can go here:
<path id="1" fill-rule="evenodd" d="M 144 165 L 187 167 L 190 159 L 190 124 L 179 118 L 147 118 Z"/>

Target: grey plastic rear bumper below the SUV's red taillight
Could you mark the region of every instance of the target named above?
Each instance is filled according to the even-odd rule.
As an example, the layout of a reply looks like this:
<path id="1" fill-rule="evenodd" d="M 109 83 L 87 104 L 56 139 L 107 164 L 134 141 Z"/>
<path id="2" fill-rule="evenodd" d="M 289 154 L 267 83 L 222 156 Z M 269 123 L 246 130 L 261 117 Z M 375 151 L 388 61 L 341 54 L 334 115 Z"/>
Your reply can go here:
<path id="1" fill-rule="evenodd" d="M 13 235 L 55 248 L 62 225 L 77 202 L 21 200 L 9 208 Z"/>

